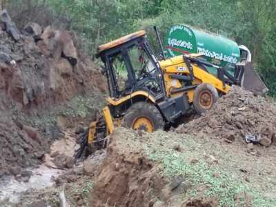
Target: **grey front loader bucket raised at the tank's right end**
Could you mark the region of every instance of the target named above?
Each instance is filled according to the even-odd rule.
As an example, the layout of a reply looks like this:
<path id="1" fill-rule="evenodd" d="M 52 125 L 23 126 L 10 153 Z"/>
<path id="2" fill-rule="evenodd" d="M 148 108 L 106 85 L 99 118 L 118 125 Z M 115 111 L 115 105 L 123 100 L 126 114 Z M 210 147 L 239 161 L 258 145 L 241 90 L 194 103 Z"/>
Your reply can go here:
<path id="1" fill-rule="evenodd" d="M 244 68 L 244 77 L 241 82 L 241 86 L 246 89 L 254 92 L 257 95 L 262 95 L 268 92 L 268 88 L 262 79 L 255 72 L 254 67 L 251 63 L 246 63 Z"/>

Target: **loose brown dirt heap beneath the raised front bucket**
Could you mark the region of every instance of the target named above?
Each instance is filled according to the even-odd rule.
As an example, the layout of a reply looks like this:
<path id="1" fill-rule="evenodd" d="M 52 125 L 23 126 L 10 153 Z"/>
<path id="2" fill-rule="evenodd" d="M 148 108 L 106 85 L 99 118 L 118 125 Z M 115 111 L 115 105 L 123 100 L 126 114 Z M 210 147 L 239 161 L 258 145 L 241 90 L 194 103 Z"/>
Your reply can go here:
<path id="1" fill-rule="evenodd" d="M 269 146 L 276 142 L 275 115 L 273 101 L 233 86 L 206 115 L 179 126 L 176 132 L 224 139 L 228 143 L 251 136 L 255 142 Z"/>

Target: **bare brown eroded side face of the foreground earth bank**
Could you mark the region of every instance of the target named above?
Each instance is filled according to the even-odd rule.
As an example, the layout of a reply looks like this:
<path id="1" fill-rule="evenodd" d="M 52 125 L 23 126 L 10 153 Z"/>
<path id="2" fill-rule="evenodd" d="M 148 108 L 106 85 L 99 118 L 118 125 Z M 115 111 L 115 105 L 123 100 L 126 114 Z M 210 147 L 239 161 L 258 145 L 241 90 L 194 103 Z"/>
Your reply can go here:
<path id="1" fill-rule="evenodd" d="M 120 136 L 119 131 L 110 135 L 114 139 L 90 194 L 90 206 L 153 206 L 164 179 L 141 148 L 124 144 Z"/>

